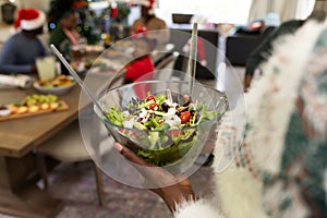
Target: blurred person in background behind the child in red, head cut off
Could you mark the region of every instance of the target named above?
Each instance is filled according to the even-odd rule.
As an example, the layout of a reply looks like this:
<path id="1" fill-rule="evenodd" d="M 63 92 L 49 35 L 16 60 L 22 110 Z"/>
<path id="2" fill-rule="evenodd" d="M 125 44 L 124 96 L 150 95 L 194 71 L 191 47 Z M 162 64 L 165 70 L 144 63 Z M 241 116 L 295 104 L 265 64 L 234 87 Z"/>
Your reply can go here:
<path id="1" fill-rule="evenodd" d="M 166 22 L 154 13 L 155 0 L 141 0 L 138 3 L 141 4 L 141 17 L 133 22 L 131 33 L 135 33 L 138 26 L 145 26 L 149 31 L 148 37 L 155 39 L 157 46 L 166 46 L 169 39 L 169 31 Z"/>

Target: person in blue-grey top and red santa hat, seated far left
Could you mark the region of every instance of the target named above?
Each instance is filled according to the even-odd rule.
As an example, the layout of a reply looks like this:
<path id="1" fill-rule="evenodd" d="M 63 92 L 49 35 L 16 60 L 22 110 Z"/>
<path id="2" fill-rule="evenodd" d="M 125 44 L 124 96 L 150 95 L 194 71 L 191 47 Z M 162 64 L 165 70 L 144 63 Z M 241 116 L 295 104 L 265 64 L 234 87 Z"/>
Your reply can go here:
<path id="1" fill-rule="evenodd" d="M 21 9 L 14 28 L 17 32 L 3 45 L 0 55 L 0 73 L 35 73 L 35 60 L 45 57 L 47 51 L 37 35 L 43 34 L 46 22 L 44 12 L 35 9 Z"/>

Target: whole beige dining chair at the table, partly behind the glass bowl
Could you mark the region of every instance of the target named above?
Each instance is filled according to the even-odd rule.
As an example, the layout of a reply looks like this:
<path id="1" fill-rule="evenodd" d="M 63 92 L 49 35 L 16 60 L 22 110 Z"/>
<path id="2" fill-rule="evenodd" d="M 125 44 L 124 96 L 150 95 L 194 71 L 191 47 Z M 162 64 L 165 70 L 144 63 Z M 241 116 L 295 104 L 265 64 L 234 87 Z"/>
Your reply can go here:
<path id="1" fill-rule="evenodd" d="M 124 74 L 125 74 L 124 70 L 116 72 L 105 87 L 97 88 L 95 95 L 100 95 L 102 92 L 106 92 L 106 89 L 111 89 L 113 87 L 120 86 L 124 81 Z M 80 111 L 80 113 L 81 112 L 88 113 L 86 116 L 88 119 L 86 122 L 97 122 L 98 118 L 93 111 L 93 106 L 87 107 L 87 109 Z M 83 116 L 80 114 L 80 119 L 81 117 Z M 92 128 L 94 138 L 89 138 L 92 141 L 90 144 L 96 143 L 98 147 L 104 147 L 102 146 L 102 143 L 105 142 L 104 138 L 108 137 L 108 134 L 107 132 L 106 133 L 101 132 L 100 128 L 99 129 L 97 128 L 99 126 L 96 125 L 96 128 L 95 126 Z M 105 153 L 106 150 L 101 149 L 101 152 Z M 48 141 L 46 141 L 40 147 L 37 148 L 37 165 L 38 165 L 41 180 L 44 181 L 44 189 L 47 190 L 49 185 L 48 170 L 45 162 L 46 156 L 51 157 L 61 162 L 77 162 L 77 161 L 93 160 L 92 157 L 100 158 L 101 154 L 97 154 L 97 153 L 101 153 L 101 152 L 99 152 L 99 149 L 87 150 L 81 135 L 78 120 L 74 121 L 72 124 L 70 124 L 60 133 L 56 134 Z M 100 206 L 102 206 L 105 203 L 105 193 L 102 187 L 102 174 L 101 174 L 102 171 L 95 164 L 95 161 L 93 161 L 93 165 L 95 169 L 98 203 Z"/>

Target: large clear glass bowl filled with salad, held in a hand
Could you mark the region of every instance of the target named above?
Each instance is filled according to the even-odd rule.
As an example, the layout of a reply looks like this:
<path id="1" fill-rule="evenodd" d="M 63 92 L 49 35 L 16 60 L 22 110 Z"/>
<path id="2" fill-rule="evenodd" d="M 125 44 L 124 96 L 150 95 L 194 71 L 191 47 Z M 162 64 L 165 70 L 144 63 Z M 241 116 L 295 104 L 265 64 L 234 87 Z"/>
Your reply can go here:
<path id="1" fill-rule="evenodd" d="M 192 95 L 184 81 L 146 81 L 120 86 L 99 96 L 95 107 L 116 141 L 137 156 L 184 172 L 213 136 L 228 109 L 227 97 L 199 83 Z"/>

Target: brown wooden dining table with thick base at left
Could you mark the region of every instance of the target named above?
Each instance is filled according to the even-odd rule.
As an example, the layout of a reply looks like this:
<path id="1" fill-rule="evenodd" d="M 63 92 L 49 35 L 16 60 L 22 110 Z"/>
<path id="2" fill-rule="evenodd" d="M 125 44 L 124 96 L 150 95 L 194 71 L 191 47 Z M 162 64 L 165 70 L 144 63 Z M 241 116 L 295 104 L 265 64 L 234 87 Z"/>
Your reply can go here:
<path id="1" fill-rule="evenodd" d="M 106 80 L 111 75 L 109 74 Z M 88 80 L 95 92 L 104 76 Z M 0 105 L 20 102 L 25 96 L 37 94 L 34 88 L 0 89 Z M 59 96 L 69 108 L 45 114 L 0 121 L 0 214 L 26 218 L 53 217 L 63 204 L 49 196 L 37 185 L 37 147 L 78 119 L 78 111 L 89 106 L 80 104 L 81 87 L 76 85 L 68 94 Z"/>

